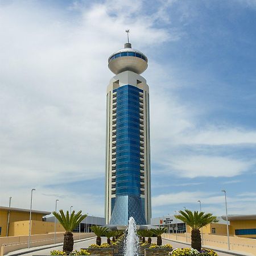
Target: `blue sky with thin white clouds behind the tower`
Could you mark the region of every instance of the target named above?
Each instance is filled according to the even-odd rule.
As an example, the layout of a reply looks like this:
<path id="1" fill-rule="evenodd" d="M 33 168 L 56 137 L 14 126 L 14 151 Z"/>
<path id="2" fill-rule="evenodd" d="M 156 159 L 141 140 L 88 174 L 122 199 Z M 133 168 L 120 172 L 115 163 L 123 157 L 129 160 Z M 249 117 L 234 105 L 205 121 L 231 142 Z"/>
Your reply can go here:
<path id="1" fill-rule="evenodd" d="M 108 57 L 148 57 L 152 217 L 256 212 L 255 0 L 0 0 L 0 205 L 104 216 Z"/>

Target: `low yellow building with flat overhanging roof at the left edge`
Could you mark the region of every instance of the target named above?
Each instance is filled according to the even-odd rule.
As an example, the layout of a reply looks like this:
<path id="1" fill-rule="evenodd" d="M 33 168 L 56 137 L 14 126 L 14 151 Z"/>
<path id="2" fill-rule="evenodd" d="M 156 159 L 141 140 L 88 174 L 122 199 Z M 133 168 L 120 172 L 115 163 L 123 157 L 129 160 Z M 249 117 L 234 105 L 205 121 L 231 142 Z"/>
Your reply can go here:
<path id="1" fill-rule="evenodd" d="M 44 216 L 51 214 L 42 210 L 31 212 L 31 234 L 47 234 L 54 232 L 54 225 L 46 223 Z M 0 207 L 0 237 L 26 236 L 29 234 L 30 210 Z M 56 225 L 57 232 L 63 232 L 60 224 Z"/>

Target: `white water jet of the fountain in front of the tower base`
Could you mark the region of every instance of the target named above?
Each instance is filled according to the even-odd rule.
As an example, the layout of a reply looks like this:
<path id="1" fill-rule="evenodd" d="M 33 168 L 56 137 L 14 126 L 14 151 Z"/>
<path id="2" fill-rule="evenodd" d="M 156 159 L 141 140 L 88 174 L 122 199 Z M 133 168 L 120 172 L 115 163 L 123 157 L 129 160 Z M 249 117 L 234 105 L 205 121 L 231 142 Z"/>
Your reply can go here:
<path id="1" fill-rule="evenodd" d="M 129 218 L 129 226 L 126 229 L 124 256 L 139 255 L 139 237 L 136 231 L 136 223 L 133 217 Z"/>

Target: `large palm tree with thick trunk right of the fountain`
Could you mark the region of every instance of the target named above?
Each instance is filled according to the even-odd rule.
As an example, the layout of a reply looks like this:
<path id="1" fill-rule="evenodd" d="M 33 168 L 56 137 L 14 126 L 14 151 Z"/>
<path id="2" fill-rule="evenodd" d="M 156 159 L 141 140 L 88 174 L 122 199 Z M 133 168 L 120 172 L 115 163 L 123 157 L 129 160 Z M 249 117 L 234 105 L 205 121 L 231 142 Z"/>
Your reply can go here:
<path id="1" fill-rule="evenodd" d="M 175 215 L 175 218 L 185 222 L 191 227 L 191 247 L 197 251 L 201 250 L 201 234 L 200 228 L 206 226 L 210 222 L 218 222 L 217 217 L 213 216 L 212 213 L 204 213 L 185 209 L 179 210 L 180 215 Z"/>

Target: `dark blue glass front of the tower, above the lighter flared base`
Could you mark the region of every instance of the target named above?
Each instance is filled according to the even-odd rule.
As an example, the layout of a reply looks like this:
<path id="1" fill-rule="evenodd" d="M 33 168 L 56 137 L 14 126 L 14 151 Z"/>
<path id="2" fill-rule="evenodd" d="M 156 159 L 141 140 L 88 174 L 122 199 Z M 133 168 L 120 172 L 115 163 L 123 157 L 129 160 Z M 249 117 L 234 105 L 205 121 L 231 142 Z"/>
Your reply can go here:
<path id="1" fill-rule="evenodd" d="M 141 196 L 139 92 L 132 85 L 117 89 L 116 196 Z"/>

